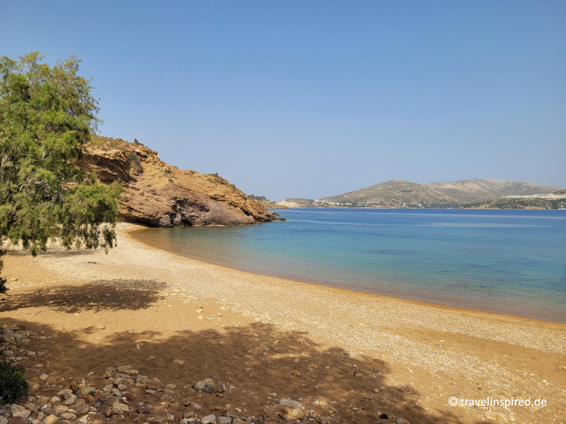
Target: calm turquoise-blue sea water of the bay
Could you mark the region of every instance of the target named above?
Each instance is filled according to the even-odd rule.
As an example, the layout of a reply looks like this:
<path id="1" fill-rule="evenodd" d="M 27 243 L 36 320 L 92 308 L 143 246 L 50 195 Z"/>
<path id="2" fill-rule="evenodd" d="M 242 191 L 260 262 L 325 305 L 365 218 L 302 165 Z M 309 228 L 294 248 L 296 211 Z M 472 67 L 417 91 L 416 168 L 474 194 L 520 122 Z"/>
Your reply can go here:
<path id="1" fill-rule="evenodd" d="M 282 209 L 285 222 L 149 228 L 145 243 L 263 275 L 566 322 L 566 211 Z"/>

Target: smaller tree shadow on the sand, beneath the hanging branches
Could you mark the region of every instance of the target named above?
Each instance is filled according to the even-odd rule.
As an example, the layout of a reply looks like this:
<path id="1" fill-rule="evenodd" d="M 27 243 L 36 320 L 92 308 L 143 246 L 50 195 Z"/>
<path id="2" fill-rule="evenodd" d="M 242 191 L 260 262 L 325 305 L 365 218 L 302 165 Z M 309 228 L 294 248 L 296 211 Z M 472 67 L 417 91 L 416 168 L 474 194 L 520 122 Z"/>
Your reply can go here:
<path id="1" fill-rule="evenodd" d="M 57 285 L 10 296 L 0 302 L 0 312 L 48 306 L 74 314 L 84 310 L 138 310 L 161 298 L 164 284 L 156 280 L 96 280 L 82 285 Z"/>

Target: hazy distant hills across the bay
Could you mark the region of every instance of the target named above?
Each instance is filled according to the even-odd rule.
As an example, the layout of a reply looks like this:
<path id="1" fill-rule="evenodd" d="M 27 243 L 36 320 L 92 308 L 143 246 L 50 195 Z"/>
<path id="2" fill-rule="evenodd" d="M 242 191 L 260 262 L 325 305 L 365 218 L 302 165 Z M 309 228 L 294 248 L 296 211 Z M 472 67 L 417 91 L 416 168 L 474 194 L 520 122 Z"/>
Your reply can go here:
<path id="1" fill-rule="evenodd" d="M 328 196 L 311 205 L 346 204 L 348 206 L 383 207 L 458 207 L 477 204 L 501 196 L 553 193 L 560 190 L 554 185 L 538 185 L 531 181 L 508 181 L 495 178 L 474 178 L 460 181 L 436 181 L 429 184 L 390 180 L 336 196 Z M 280 202 L 307 206 L 304 199 Z M 292 206 L 291 206 L 292 207 Z M 300 207 L 300 206 L 299 206 Z"/>

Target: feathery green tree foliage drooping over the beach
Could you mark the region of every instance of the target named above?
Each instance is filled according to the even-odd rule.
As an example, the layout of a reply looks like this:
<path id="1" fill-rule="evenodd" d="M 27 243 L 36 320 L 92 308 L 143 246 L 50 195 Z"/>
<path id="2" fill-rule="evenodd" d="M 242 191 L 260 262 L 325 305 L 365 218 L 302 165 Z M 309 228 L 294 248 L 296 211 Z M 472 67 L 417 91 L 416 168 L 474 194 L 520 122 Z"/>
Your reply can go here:
<path id="1" fill-rule="evenodd" d="M 0 58 L 0 241 L 33 255 L 55 238 L 108 251 L 122 189 L 75 165 L 101 122 L 92 86 L 74 56 L 52 67 L 42 59 Z"/>

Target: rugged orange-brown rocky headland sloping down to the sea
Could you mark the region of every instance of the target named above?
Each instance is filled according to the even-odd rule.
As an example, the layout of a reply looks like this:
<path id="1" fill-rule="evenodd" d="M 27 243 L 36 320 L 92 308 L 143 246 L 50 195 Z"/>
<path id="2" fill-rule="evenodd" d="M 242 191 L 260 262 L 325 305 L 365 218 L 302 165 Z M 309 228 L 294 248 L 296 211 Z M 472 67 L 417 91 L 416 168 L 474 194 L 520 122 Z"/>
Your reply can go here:
<path id="1" fill-rule="evenodd" d="M 142 144 L 92 136 L 78 165 L 125 192 L 122 219 L 153 227 L 257 224 L 278 220 L 217 174 L 169 166 Z"/>

